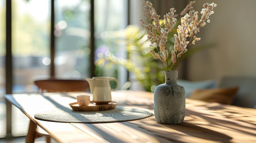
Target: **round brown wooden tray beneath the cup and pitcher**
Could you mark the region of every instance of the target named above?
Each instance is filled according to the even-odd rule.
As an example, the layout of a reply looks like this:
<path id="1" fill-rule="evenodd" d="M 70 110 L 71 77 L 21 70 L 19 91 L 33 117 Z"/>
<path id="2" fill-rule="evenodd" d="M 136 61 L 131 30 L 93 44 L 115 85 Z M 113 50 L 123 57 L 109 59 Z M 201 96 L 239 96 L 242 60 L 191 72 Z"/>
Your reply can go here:
<path id="1" fill-rule="evenodd" d="M 109 102 L 108 104 L 96 104 L 91 101 L 89 106 L 79 106 L 77 102 L 70 103 L 69 105 L 74 111 L 105 111 L 115 109 L 117 106 L 117 101 Z"/>

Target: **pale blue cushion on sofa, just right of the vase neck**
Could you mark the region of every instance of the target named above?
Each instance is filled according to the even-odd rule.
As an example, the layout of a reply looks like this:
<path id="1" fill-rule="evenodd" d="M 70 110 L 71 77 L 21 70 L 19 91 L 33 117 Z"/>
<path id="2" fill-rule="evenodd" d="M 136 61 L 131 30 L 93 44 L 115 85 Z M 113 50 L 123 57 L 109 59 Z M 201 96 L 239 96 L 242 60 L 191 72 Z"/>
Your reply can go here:
<path id="1" fill-rule="evenodd" d="M 188 98 L 194 90 L 197 89 L 210 89 L 217 87 L 217 81 L 214 79 L 204 81 L 188 81 L 178 79 L 177 84 L 183 86 L 186 92 L 186 98 Z"/>

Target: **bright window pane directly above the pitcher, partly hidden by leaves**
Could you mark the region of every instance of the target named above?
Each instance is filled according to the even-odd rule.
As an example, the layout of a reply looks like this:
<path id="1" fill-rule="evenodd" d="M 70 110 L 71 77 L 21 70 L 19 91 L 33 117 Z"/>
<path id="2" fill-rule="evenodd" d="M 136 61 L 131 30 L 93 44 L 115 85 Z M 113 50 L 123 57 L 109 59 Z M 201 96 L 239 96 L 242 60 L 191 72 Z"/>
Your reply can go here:
<path id="1" fill-rule="evenodd" d="M 116 34 L 113 31 L 125 29 L 128 25 L 128 0 L 95 0 L 94 14 L 96 44 L 94 60 L 101 56 L 99 54 L 109 51 L 125 58 L 126 47 L 108 39 Z M 120 86 L 127 81 L 126 69 L 120 66 L 104 63 L 104 66 L 96 67 L 95 73 L 97 76 L 117 77 Z"/>

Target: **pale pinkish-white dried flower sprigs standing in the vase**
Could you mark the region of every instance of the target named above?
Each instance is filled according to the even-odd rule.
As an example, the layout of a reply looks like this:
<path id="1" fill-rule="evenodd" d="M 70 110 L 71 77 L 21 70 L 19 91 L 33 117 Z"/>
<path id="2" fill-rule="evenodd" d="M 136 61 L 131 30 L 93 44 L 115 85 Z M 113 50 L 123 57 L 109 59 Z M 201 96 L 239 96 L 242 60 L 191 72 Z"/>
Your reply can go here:
<path id="1" fill-rule="evenodd" d="M 143 13 L 144 17 L 149 21 L 146 24 L 143 20 L 141 21 L 141 26 L 146 29 L 148 32 L 148 39 L 150 40 L 150 46 L 153 47 L 153 50 L 150 53 L 155 59 L 159 59 L 162 63 L 162 66 L 166 66 L 166 70 L 172 70 L 174 64 L 176 64 L 176 70 L 180 59 L 184 53 L 187 51 L 187 47 L 190 44 L 195 44 L 196 41 L 201 40 L 201 38 L 196 37 L 195 34 L 200 31 L 200 28 L 206 25 L 207 21 L 210 22 L 209 16 L 214 13 L 213 7 L 216 7 L 215 3 L 205 3 L 203 4 L 203 9 L 200 12 L 201 17 L 198 16 L 198 11 L 195 11 L 192 7 L 195 1 L 190 2 L 185 9 L 180 13 L 183 17 L 180 18 L 181 24 L 177 26 L 177 34 L 174 34 L 174 51 L 171 51 L 171 60 L 172 64 L 168 66 L 168 50 L 166 47 L 167 37 L 170 32 L 174 29 L 178 16 L 175 14 L 176 10 L 171 8 L 166 15 L 164 15 L 164 21 L 160 22 L 160 16 L 157 15 L 157 12 L 153 8 L 152 3 L 142 2 L 146 13 Z M 151 24 L 151 22 L 154 24 Z M 194 39 L 192 41 L 192 38 Z M 156 52 L 157 51 L 157 52 Z M 165 69 L 164 69 L 165 70 Z"/>

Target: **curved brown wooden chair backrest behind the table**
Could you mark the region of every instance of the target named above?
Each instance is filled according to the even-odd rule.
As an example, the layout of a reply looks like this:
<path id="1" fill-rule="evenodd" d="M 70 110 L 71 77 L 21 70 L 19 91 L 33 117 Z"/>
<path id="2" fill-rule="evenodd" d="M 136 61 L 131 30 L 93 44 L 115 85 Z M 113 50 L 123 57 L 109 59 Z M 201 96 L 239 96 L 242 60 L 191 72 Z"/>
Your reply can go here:
<path id="1" fill-rule="evenodd" d="M 34 81 L 41 92 L 73 92 L 89 89 L 88 81 L 78 79 L 45 79 Z"/>

